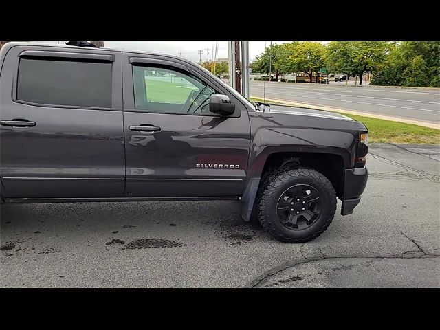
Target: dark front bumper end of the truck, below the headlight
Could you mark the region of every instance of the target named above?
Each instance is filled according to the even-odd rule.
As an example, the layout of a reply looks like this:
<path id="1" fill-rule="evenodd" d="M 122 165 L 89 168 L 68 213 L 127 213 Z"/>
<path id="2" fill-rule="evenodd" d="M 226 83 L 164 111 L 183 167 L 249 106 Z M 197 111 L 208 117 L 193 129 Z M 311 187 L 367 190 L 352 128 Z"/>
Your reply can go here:
<path id="1" fill-rule="evenodd" d="M 365 166 L 359 168 L 350 168 L 345 170 L 344 192 L 340 200 L 342 201 L 341 214 L 348 215 L 360 202 L 360 195 L 365 190 L 366 181 L 369 177 L 369 171 Z"/>

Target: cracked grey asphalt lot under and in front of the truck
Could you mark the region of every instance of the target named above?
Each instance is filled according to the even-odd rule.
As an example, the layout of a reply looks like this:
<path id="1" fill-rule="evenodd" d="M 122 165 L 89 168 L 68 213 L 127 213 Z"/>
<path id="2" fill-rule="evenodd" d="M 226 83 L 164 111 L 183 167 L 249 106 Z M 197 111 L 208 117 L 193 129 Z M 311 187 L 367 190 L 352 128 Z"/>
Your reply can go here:
<path id="1" fill-rule="evenodd" d="M 2 205 L 1 287 L 440 287 L 440 146 L 373 144 L 360 205 L 305 244 L 234 201 Z"/>

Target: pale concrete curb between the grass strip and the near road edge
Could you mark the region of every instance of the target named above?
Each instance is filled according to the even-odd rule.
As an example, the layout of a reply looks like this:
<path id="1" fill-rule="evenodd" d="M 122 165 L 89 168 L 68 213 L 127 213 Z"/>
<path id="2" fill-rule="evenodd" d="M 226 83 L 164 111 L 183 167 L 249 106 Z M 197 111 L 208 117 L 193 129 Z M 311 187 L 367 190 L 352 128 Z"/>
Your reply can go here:
<path id="1" fill-rule="evenodd" d="M 251 96 L 251 97 L 259 99 L 259 100 L 263 100 L 263 98 L 260 98 L 258 96 Z M 413 125 L 428 127 L 430 129 L 440 129 L 440 124 L 433 124 L 432 122 L 419 122 L 418 120 L 410 120 L 410 119 L 404 119 L 404 118 L 398 118 L 398 117 L 388 117 L 387 115 L 376 115 L 374 113 L 350 111 L 350 110 L 333 108 L 333 107 L 323 107 L 322 105 L 292 102 L 289 100 L 276 100 L 274 98 L 265 98 L 265 100 L 269 101 L 269 102 L 283 103 L 285 105 L 293 105 L 294 107 L 300 107 L 300 108 L 306 108 L 306 109 L 316 109 L 316 110 L 323 110 L 323 111 L 330 111 L 330 112 L 340 112 L 340 113 L 347 113 L 349 115 L 361 115 L 363 117 L 376 118 L 376 119 L 382 119 L 382 120 L 390 120 L 391 122 L 404 122 L 406 124 L 413 124 Z"/>

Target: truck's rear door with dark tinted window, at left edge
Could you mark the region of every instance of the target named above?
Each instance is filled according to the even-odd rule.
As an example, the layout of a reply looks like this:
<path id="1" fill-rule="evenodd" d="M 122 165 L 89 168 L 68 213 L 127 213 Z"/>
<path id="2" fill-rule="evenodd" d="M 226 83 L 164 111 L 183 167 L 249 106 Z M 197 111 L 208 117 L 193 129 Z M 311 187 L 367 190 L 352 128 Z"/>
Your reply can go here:
<path id="1" fill-rule="evenodd" d="M 0 84 L 3 197 L 124 195 L 120 52 L 15 46 Z"/>

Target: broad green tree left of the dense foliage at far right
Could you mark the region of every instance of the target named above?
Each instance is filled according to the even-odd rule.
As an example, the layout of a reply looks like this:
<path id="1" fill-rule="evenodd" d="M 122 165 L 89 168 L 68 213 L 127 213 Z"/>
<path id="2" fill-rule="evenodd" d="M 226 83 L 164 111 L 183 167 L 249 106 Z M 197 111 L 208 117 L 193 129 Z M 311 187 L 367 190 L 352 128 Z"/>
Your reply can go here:
<path id="1" fill-rule="evenodd" d="M 386 41 L 332 41 L 327 48 L 327 67 L 333 72 L 349 76 L 362 76 L 384 67 L 393 43 Z"/>

